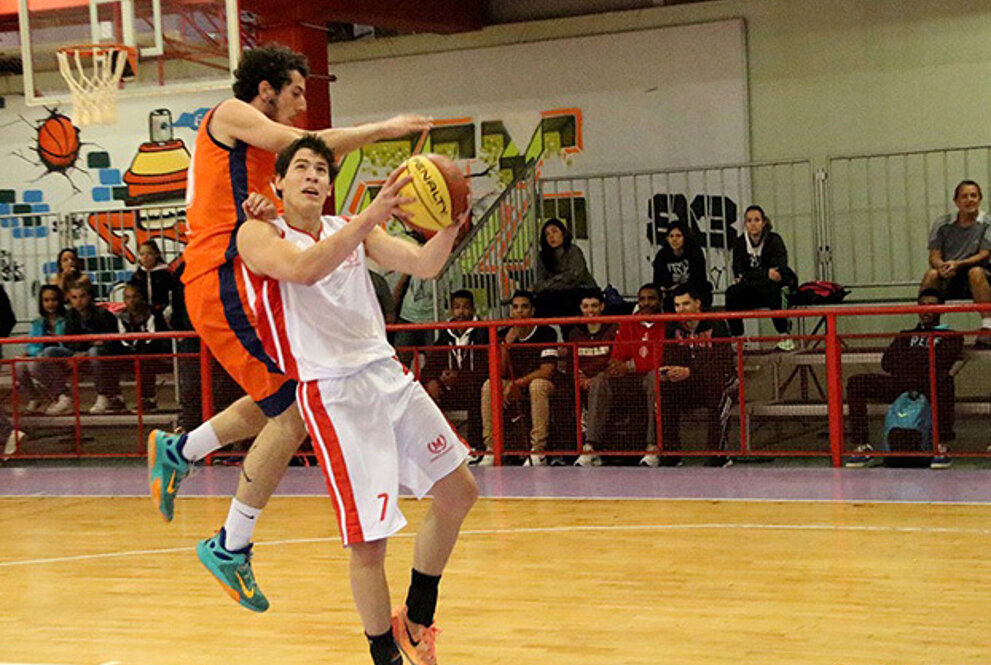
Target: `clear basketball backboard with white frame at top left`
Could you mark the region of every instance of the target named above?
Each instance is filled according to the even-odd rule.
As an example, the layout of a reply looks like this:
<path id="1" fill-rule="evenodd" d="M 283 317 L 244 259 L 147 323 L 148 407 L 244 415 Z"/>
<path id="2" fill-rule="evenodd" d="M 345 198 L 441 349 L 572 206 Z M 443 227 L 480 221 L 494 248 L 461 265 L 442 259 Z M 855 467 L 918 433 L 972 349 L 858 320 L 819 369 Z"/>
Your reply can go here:
<path id="1" fill-rule="evenodd" d="M 28 105 L 70 101 L 56 50 L 77 44 L 136 47 L 121 98 L 230 89 L 240 54 L 237 0 L 17 2 Z"/>

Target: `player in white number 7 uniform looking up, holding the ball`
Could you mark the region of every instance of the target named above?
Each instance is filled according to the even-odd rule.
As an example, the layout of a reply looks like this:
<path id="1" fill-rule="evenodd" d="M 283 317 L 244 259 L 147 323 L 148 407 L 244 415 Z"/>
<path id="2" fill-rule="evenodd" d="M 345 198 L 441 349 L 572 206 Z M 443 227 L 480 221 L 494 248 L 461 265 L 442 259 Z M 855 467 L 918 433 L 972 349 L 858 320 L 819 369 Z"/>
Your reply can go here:
<path id="1" fill-rule="evenodd" d="M 444 265 L 457 226 L 421 247 L 379 224 L 402 212 L 397 169 L 362 220 L 322 216 L 333 155 L 315 136 L 279 154 L 276 185 L 285 213 L 249 220 L 238 232 L 249 304 L 268 354 L 299 382 L 297 404 L 324 471 L 341 539 L 350 548 L 351 588 L 375 665 L 434 665 L 437 587 L 458 531 L 478 495 L 468 447 L 419 382 L 395 359 L 365 266 L 416 277 Z M 272 215 L 274 216 L 274 215 Z M 463 220 L 458 220 L 460 223 Z M 390 610 L 386 539 L 406 519 L 399 486 L 433 497 L 417 534 L 405 606 Z"/>

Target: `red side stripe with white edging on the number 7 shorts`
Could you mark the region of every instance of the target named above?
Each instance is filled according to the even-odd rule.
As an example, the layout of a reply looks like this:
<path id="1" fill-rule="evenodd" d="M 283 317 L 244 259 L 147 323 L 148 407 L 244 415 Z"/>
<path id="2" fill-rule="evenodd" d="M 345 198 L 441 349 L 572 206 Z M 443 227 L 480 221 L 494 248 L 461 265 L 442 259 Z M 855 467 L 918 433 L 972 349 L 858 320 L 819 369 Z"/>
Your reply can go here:
<path id="1" fill-rule="evenodd" d="M 316 381 L 299 384 L 300 403 L 303 409 L 306 427 L 313 439 L 313 446 L 319 453 L 320 468 L 323 470 L 327 490 L 331 496 L 339 496 L 343 504 L 334 502 L 334 512 L 341 530 L 345 545 L 365 542 L 365 534 L 361 530 L 361 518 L 358 515 L 358 504 L 354 500 L 351 488 L 351 478 L 348 476 L 347 463 L 341 451 L 341 442 L 337 438 L 337 430 L 330 421 L 330 415 L 323 405 L 320 387 Z"/>

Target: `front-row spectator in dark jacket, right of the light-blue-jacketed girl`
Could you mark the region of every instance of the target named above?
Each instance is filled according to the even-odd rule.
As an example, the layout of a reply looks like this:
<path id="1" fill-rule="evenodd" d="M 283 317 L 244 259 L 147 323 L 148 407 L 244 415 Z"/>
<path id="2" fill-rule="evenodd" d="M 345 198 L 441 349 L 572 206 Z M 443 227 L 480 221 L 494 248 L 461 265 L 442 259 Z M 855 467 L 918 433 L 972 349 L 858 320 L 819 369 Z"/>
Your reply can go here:
<path id="1" fill-rule="evenodd" d="M 79 283 L 69 289 L 69 307 L 65 317 L 67 335 L 117 334 L 117 318 L 94 304 L 88 285 Z M 93 358 L 89 363 L 89 369 L 93 372 L 97 397 L 89 412 L 100 414 L 108 411 L 125 411 L 126 407 L 120 392 L 120 377 L 117 373 L 119 367 L 116 363 L 106 360 L 113 355 L 113 344 L 103 341 L 69 342 L 68 346 L 75 356 Z M 98 360 L 101 358 L 103 360 Z"/>

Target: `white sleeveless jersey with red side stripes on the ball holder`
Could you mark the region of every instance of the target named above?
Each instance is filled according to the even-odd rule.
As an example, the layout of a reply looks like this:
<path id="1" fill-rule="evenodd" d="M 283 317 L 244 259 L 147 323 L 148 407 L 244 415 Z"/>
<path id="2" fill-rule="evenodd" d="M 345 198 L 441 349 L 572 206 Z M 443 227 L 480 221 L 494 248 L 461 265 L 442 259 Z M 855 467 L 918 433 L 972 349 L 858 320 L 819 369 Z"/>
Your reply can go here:
<path id="1" fill-rule="evenodd" d="M 281 217 L 272 222 L 284 239 L 300 249 L 312 247 L 347 223 L 342 217 L 321 217 L 320 235 L 314 237 Z M 385 337 L 385 320 L 368 276 L 363 243 L 312 286 L 244 271 L 259 337 L 287 376 L 297 381 L 348 376 L 395 355 Z"/>

